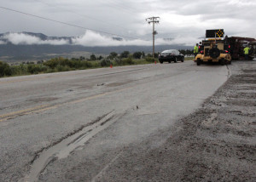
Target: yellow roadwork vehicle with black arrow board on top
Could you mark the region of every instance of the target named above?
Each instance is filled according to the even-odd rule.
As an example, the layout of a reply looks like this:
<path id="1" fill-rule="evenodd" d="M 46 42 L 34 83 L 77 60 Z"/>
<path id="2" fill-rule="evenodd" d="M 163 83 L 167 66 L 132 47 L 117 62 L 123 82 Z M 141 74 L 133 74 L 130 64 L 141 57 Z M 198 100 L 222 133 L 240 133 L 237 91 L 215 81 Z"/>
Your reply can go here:
<path id="1" fill-rule="evenodd" d="M 225 43 L 223 29 L 207 30 L 206 40 L 200 44 L 199 54 L 195 56 L 196 65 L 205 63 L 231 64 L 229 44 Z"/>

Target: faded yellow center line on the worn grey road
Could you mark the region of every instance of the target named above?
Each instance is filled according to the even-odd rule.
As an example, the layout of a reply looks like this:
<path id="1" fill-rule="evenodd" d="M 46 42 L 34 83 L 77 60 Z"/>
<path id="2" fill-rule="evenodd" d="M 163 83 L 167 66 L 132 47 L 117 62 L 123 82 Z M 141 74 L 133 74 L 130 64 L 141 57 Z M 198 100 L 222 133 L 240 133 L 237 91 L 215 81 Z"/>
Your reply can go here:
<path id="1" fill-rule="evenodd" d="M 42 111 L 49 111 L 49 110 L 61 107 L 63 105 L 77 104 L 77 103 L 80 103 L 80 102 L 83 102 L 83 101 L 86 101 L 86 100 L 93 100 L 93 99 L 100 98 L 100 97 L 108 95 L 108 94 L 114 94 L 114 93 L 117 93 L 117 92 L 124 91 L 126 89 L 134 88 L 134 87 L 135 86 L 131 86 L 131 87 L 128 87 L 128 88 L 121 88 L 121 89 L 118 89 L 118 90 L 106 92 L 106 93 L 103 93 L 103 94 L 96 94 L 96 95 L 93 95 L 93 96 L 90 96 L 90 97 L 85 97 L 83 99 L 73 100 L 73 101 L 65 102 L 65 103 L 58 104 L 58 105 L 39 105 L 39 106 L 36 106 L 36 107 L 28 108 L 26 110 L 10 112 L 10 113 L 7 113 L 7 114 L 0 115 L 0 122 L 6 121 L 8 119 L 15 118 L 15 117 L 19 117 L 19 116 L 30 115 L 30 114 L 38 113 L 38 112 L 42 112 Z"/>

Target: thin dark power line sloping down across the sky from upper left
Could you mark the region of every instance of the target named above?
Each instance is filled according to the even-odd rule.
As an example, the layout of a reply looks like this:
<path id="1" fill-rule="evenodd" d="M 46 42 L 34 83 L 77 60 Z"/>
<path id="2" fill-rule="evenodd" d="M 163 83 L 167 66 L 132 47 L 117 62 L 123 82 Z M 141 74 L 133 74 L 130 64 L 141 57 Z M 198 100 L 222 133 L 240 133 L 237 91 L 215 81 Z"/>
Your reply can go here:
<path id="1" fill-rule="evenodd" d="M 43 16 L 38 16 L 38 15 L 35 15 L 35 14 L 28 14 L 28 13 L 25 13 L 25 12 L 22 12 L 22 11 L 19 11 L 19 10 L 9 9 L 9 8 L 5 8 L 5 7 L 2 7 L 2 6 L 0 6 L 0 9 L 6 9 L 6 10 L 13 11 L 13 12 L 19 13 L 19 14 L 26 14 L 28 16 L 36 17 L 38 19 L 43 19 L 43 20 L 49 20 L 49 21 L 52 21 L 52 22 L 55 22 L 55 23 L 60 23 L 60 24 L 66 25 L 66 26 L 73 26 L 73 27 L 76 27 L 76 28 L 81 28 L 81 29 L 84 29 L 86 31 L 87 30 L 88 31 L 96 31 L 96 32 L 111 35 L 111 36 L 125 37 L 125 38 L 129 38 L 129 39 L 134 39 L 134 40 L 138 39 L 138 38 L 134 38 L 134 37 L 126 37 L 126 36 L 122 36 L 122 35 L 118 35 L 118 34 L 114 34 L 114 33 L 109 33 L 107 31 L 97 31 L 97 30 L 94 30 L 94 29 L 86 28 L 84 26 L 76 26 L 76 25 L 69 24 L 69 23 L 66 23 L 66 22 L 63 22 L 63 21 L 52 20 L 52 19 L 49 19 L 49 18 L 44 18 Z"/>

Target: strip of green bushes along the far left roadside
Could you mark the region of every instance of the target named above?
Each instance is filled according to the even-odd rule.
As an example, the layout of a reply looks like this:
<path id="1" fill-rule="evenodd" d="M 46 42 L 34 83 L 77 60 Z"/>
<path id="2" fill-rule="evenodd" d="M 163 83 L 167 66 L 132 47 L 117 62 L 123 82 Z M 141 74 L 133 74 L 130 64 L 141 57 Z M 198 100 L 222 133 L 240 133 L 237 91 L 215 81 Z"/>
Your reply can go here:
<path id="1" fill-rule="evenodd" d="M 155 54 L 157 58 L 158 54 Z M 41 60 L 35 62 L 23 62 L 20 65 L 9 65 L 0 61 L 0 77 L 14 77 L 23 75 L 32 75 L 39 73 L 50 73 L 60 71 L 75 71 L 85 70 L 109 66 L 121 65 L 143 65 L 158 62 L 158 59 L 153 58 L 152 54 L 145 55 L 143 52 L 136 52 L 130 54 L 129 51 L 124 51 L 121 54 L 115 52 L 110 53 L 107 57 L 96 57 L 95 54 L 90 55 L 90 59 L 85 59 L 83 56 L 80 58 L 53 58 L 51 60 Z M 191 60 L 191 58 L 186 58 Z"/>

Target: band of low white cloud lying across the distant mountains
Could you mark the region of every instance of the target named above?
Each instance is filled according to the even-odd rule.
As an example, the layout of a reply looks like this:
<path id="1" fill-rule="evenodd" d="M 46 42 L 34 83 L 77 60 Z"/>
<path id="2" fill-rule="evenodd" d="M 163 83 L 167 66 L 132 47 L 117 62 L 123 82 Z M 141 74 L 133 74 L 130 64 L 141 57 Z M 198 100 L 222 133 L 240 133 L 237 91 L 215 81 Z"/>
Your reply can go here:
<path id="1" fill-rule="evenodd" d="M 155 45 L 182 44 L 191 46 L 199 40 L 194 37 L 156 38 Z M 80 37 L 47 37 L 41 33 L 21 32 L 0 34 L 0 44 L 14 45 L 81 45 L 85 47 L 108 46 L 151 46 L 151 40 L 130 39 L 103 36 L 94 31 L 85 31 Z"/>

